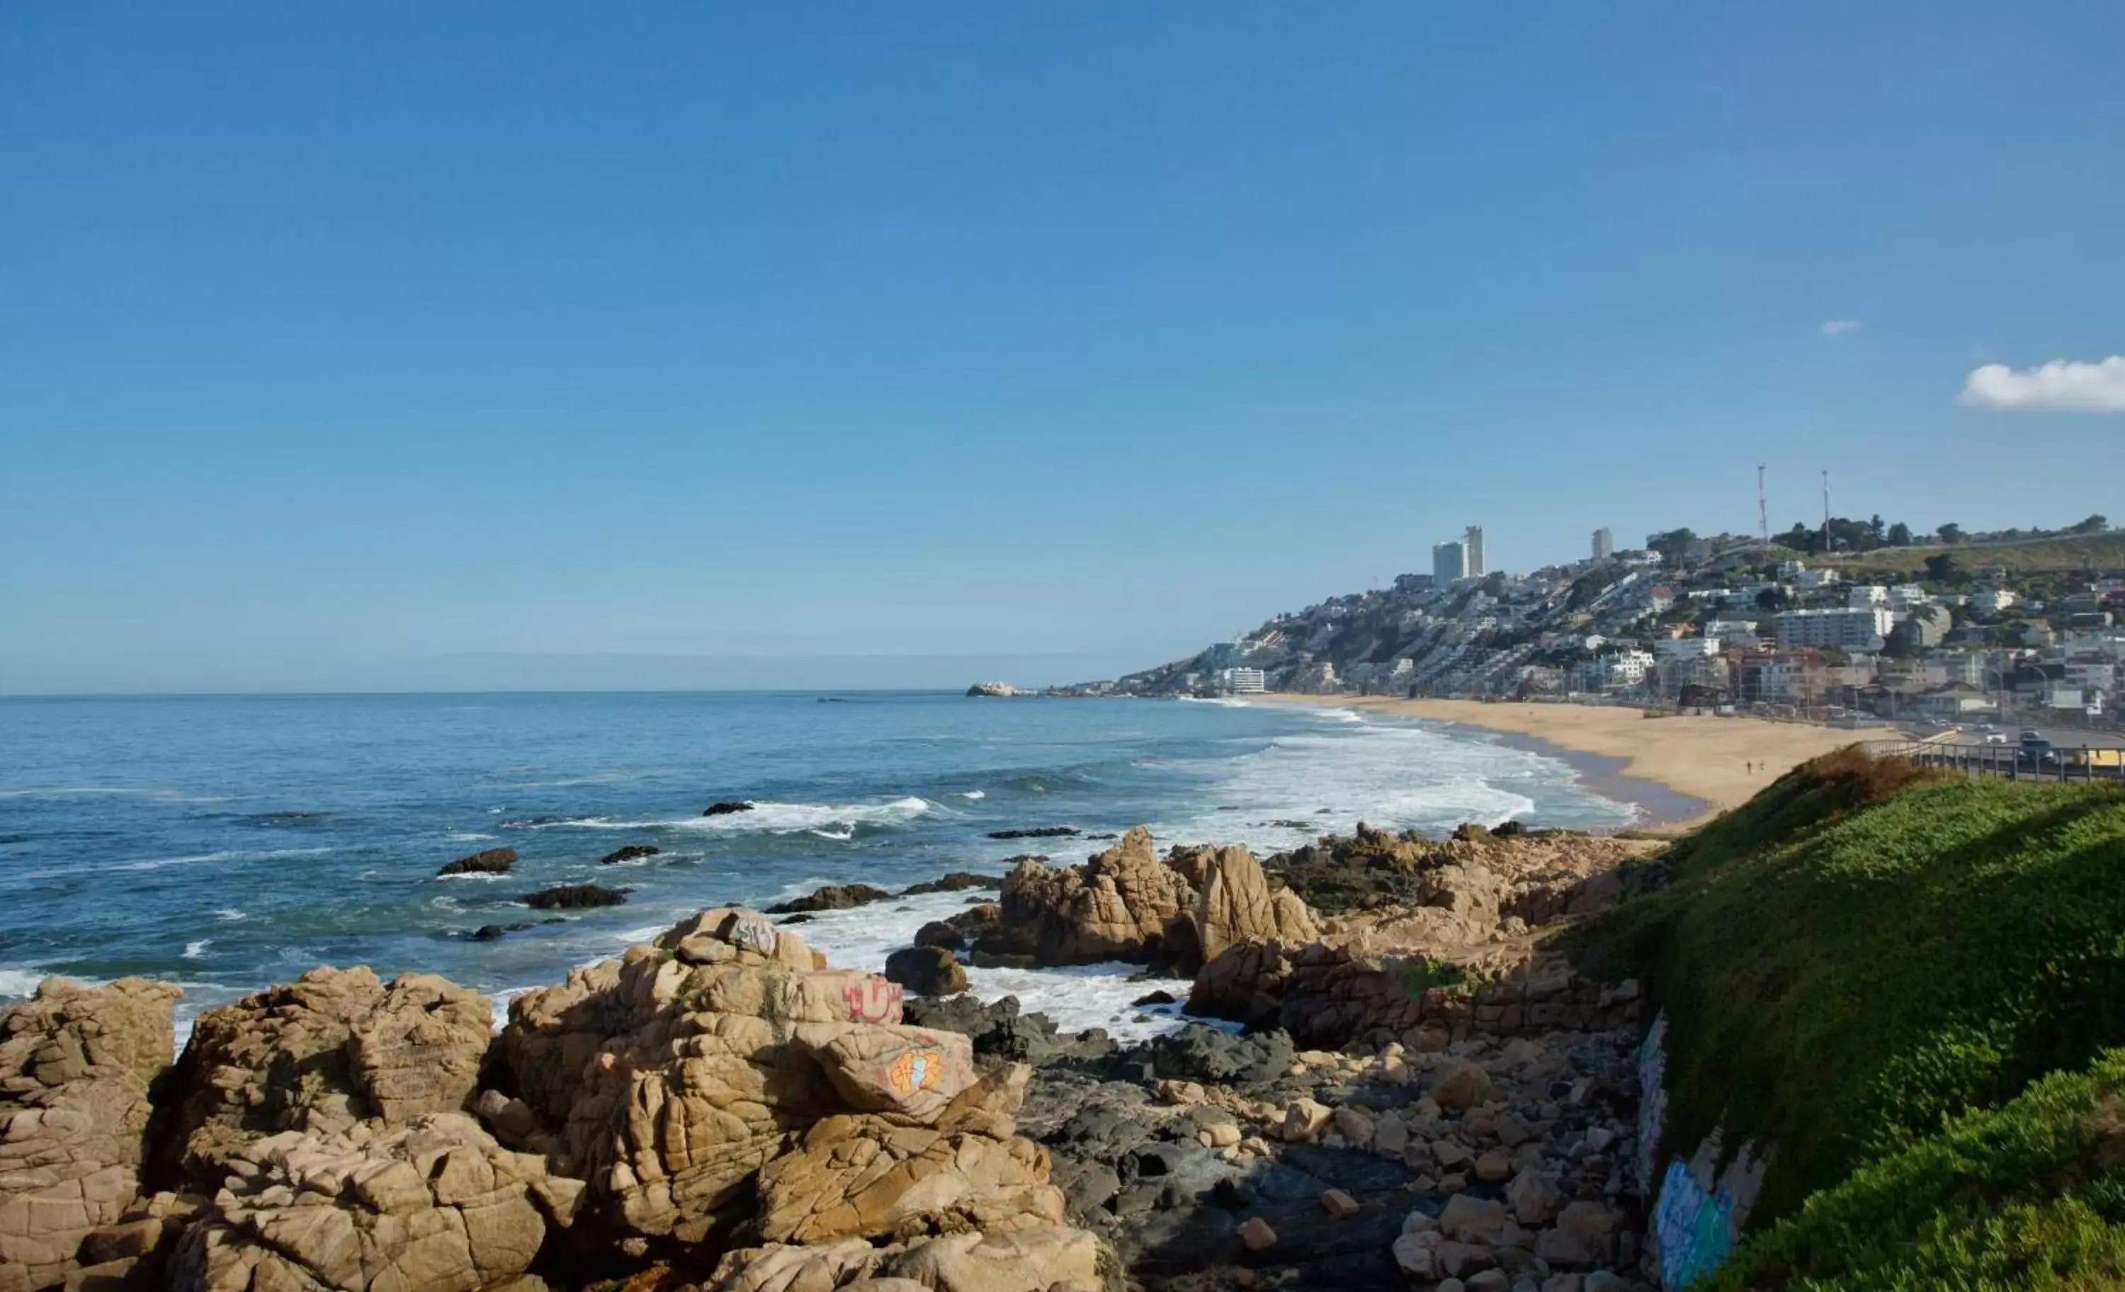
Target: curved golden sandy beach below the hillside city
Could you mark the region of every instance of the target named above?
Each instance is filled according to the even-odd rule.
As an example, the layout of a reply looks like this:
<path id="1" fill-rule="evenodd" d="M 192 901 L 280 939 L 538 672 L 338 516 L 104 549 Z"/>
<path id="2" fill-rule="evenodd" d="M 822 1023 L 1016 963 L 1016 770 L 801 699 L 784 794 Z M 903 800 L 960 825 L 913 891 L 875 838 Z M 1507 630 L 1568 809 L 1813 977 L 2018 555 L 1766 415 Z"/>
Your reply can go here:
<path id="1" fill-rule="evenodd" d="M 1626 778 L 1653 782 L 1704 808 L 1685 829 L 1747 801 L 1796 763 L 1864 740 L 1857 731 L 1760 718 L 1647 718 L 1630 708 L 1581 703 L 1483 703 L 1473 699 L 1392 699 L 1383 695 L 1271 695 L 1294 703 L 1407 714 L 1522 735 L 1577 754 L 1613 759 Z"/>

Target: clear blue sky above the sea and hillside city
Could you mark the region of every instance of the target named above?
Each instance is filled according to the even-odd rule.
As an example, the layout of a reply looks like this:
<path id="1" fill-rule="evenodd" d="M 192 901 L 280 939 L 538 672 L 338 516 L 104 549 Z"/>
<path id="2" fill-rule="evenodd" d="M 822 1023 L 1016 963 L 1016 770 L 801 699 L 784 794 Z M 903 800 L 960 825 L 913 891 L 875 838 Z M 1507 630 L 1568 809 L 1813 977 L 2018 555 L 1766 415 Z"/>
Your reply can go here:
<path id="1" fill-rule="evenodd" d="M 0 691 L 1105 676 L 1468 523 L 1749 529 L 1757 461 L 1774 527 L 1821 468 L 2121 516 L 2121 49 L 2114 0 L 8 4 Z"/>

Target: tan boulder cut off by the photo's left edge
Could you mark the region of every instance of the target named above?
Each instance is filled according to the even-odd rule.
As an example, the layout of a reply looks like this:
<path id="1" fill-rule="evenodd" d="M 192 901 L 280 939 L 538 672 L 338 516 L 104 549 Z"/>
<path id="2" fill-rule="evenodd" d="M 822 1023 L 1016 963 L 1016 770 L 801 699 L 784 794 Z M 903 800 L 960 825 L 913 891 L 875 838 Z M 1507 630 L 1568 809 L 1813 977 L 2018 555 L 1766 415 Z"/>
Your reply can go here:
<path id="1" fill-rule="evenodd" d="M 149 1086 L 178 988 L 47 978 L 0 1012 L 0 1290 L 55 1288 L 140 1192 Z"/>

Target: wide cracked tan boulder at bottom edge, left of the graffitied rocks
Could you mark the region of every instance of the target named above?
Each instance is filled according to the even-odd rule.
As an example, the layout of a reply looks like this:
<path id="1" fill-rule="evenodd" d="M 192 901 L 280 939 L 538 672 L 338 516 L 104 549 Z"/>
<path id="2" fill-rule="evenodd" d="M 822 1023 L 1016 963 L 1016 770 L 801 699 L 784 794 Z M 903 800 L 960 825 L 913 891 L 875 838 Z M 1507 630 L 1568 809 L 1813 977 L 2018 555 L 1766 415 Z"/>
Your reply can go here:
<path id="1" fill-rule="evenodd" d="M 225 1158 L 227 1182 L 178 1241 L 168 1286 L 504 1288 L 531 1266 L 548 1224 L 574 1220 L 580 1182 L 502 1150 L 463 1114 L 363 1130 L 283 1130 Z"/>

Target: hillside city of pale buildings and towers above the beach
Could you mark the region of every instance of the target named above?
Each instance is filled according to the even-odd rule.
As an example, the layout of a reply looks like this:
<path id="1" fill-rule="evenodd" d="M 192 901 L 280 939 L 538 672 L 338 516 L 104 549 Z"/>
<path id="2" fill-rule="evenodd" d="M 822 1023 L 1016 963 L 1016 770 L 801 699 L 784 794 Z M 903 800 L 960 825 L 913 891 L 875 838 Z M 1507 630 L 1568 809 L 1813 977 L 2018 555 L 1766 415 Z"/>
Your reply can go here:
<path id="1" fill-rule="evenodd" d="M 1581 561 L 1485 567 L 1483 531 L 1428 574 L 1330 597 L 1207 650 L 1062 695 L 1575 699 L 1806 716 L 2108 727 L 2125 663 L 2125 533 L 1919 542 L 1830 518 L 1779 536 L 1609 529 Z"/>

